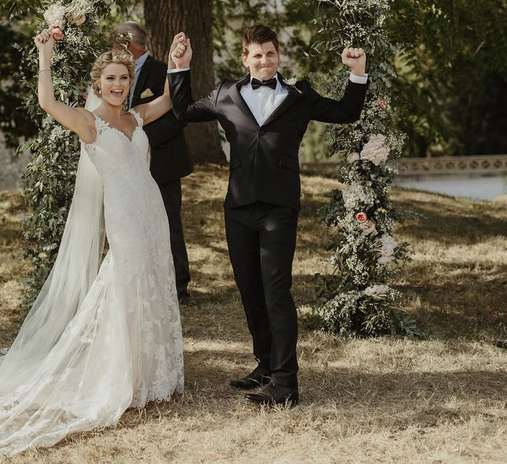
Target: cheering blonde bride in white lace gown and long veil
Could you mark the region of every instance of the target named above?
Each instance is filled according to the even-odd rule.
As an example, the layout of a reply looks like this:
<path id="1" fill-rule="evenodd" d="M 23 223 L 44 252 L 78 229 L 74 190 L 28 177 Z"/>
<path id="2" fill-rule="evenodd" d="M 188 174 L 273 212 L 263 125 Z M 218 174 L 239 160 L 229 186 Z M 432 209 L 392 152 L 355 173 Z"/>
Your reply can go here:
<path id="1" fill-rule="evenodd" d="M 171 109 L 169 88 L 123 112 L 134 59 L 106 52 L 91 72 L 98 98 L 69 107 L 54 98 L 52 33 L 35 42 L 40 107 L 79 135 L 81 157 L 52 272 L 0 358 L 0 455 L 113 426 L 127 408 L 183 388 L 169 224 L 142 130 Z"/>

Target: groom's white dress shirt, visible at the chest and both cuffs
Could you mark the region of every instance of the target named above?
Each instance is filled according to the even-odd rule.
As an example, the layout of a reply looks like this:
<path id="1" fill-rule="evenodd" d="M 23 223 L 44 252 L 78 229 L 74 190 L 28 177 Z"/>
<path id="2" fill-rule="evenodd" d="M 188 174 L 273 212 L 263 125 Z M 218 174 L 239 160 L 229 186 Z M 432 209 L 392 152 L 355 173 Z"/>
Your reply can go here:
<path id="1" fill-rule="evenodd" d="M 185 69 L 168 69 L 167 74 L 171 72 L 180 72 L 187 71 L 190 68 Z M 250 84 L 242 86 L 240 88 L 241 96 L 244 102 L 249 107 L 251 114 L 256 118 L 258 125 L 263 125 L 267 118 L 270 117 L 272 112 L 279 107 L 281 102 L 285 100 L 289 91 L 287 88 L 279 82 L 278 74 L 274 76 L 276 78 L 276 88 L 271 88 L 268 86 L 261 86 L 256 90 L 251 88 L 251 79 Z M 368 82 L 368 75 L 365 74 L 363 76 L 358 76 L 350 73 L 349 79 L 356 84 L 366 84 Z"/>

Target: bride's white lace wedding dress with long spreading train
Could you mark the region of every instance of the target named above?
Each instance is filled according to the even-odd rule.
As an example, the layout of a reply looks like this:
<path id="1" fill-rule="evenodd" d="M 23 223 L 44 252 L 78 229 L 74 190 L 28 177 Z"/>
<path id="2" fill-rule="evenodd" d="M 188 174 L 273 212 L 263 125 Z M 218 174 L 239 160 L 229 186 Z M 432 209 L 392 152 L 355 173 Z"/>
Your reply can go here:
<path id="1" fill-rule="evenodd" d="M 97 139 L 86 145 L 102 181 L 109 241 L 98 274 L 65 327 L 52 323 L 64 308 L 48 309 L 35 329 L 29 315 L 0 357 L 0 456 L 112 426 L 127 408 L 183 387 L 169 224 L 141 117 L 131 113 L 132 139 L 96 116 Z M 68 290 L 65 279 L 58 285 L 56 293 Z"/>

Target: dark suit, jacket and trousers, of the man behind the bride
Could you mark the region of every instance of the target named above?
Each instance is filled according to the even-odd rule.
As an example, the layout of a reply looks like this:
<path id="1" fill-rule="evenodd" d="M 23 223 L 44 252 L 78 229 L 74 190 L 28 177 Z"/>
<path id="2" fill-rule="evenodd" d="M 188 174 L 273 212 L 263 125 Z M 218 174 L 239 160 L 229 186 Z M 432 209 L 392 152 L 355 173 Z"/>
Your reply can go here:
<path id="1" fill-rule="evenodd" d="M 151 56 L 143 63 L 132 96 L 132 105 L 147 103 L 164 93 L 167 64 Z M 181 221 L 181 178 L 192 173 L 187 144 L 183 136 L 182 123 L 173 111 L 145 125 L 151 148 L 150 171 L 159 186 L 171 231 L 171 251 L 176 270 L 176 289 L 178 295 L 187 292 L 190 281 L 189 262 Z"/>

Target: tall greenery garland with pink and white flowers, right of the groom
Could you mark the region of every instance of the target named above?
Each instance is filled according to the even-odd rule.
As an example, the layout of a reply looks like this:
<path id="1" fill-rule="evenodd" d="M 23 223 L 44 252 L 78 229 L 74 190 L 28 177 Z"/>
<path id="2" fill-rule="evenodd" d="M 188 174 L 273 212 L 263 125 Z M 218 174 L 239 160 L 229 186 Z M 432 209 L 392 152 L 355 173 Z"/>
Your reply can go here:
<path id="1" fill-rule="evenodd" d="M 392 236 L 401 217 L 389 200 L 398 172 L 396 158 L 405 135 L 393 125 L 389 86 L 396 75 L 389 60 L 396 49 L 387 40 L 384 22 L 390 0 L 319 0 L 322 15 L 315 54 L 339 54 L 344 46 L 362 47 L 368 56 L 368 95 L 361 118 L 350 125 L 329 125 L 331 153 L 341 155 L 339 176 L 344 190 L 332 192 L 320 210 L 332 231 L 330 261 L 335 272 L 320 276 L 321 301 L 316 309 L 323 330 L 345 337 L 419 334 L 415 320 L 398 307 L 400 293 L 387 285 L 409 259 L 408 244 Z M 323 90 L 340 98 L 348 82 L 341 68 L 322 82 Z"/>

